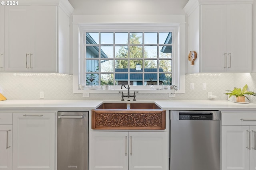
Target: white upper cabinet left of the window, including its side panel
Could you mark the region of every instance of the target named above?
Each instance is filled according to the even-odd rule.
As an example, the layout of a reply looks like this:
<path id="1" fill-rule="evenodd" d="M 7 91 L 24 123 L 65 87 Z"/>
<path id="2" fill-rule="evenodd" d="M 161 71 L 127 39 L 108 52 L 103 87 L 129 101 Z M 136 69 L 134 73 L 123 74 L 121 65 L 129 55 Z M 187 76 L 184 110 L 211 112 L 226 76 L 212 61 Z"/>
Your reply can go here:
<path id="1" fill-rule="evenodd" d="M 69 73 L 71 12 L 65 13 L 57 1 L 28 2 L 4 6 L 4 71 Z"/>

